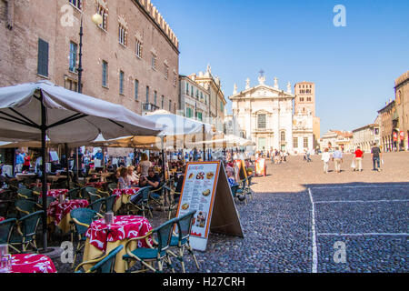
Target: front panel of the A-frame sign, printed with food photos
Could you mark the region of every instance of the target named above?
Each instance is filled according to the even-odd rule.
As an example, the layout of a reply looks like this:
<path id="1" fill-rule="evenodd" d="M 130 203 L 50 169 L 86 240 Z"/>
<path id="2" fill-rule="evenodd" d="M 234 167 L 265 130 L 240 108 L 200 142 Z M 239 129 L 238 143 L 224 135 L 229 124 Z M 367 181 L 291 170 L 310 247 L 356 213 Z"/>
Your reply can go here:
<path id="1" fill-rule="evenodd" d="M 207 239 L 219 163 L 188 163 L 177 216 L 196 210 L 191 236 Z"/>

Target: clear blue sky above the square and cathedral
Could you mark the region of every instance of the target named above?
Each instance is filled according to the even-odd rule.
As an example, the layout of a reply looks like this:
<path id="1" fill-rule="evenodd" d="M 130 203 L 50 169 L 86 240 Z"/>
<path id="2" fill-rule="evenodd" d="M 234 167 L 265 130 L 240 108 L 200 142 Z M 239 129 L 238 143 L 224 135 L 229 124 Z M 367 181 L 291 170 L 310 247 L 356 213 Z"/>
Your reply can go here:
<path id="1" fill-rule="evenodd" d="M 314 82 L 322 134 L 373 123 L 409 70 L 407 0 L 152 2 L 179 38 L 180 74 L 210 64 L 226 98 L 247 77 L 256 85 L 261 69 L 283 89 Z M 346 9 L 345 27 L 334 26 L 335 5 Z"/>

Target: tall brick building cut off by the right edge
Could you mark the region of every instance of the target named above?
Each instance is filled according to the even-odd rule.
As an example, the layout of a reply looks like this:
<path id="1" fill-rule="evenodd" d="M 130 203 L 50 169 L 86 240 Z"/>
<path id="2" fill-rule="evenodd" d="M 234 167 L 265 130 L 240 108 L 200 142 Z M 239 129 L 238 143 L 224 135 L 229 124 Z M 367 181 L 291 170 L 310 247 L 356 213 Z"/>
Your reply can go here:
<path id="1" fill-rule="evenodd" d="M 399 118 L 396 129 L 399 132 L 399 150 L 409 150 L 409 71 L 394 82 L 395 106 Z"/>

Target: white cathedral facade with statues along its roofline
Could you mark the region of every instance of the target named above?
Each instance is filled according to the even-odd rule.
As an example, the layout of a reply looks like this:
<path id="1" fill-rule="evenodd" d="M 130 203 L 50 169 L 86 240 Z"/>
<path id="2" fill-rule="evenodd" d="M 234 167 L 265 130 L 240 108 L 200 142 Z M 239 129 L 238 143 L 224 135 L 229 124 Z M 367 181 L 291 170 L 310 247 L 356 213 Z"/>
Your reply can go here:
<path id="1" fill-rule="evenodd" d="M 280 89 L 277 78 L 274 85 L 265 84 L 265 76 L 258 77 L 258 85 L 246 80 L 244 91 L 234 85 L 233 115 L 240 126 L 241 137 L 251 139 L 257 151 L 283 150 L 290 154 L 314 149 L 314 112 L 307 108 L 295 112 L 297 95 L 292 86 Z"/>

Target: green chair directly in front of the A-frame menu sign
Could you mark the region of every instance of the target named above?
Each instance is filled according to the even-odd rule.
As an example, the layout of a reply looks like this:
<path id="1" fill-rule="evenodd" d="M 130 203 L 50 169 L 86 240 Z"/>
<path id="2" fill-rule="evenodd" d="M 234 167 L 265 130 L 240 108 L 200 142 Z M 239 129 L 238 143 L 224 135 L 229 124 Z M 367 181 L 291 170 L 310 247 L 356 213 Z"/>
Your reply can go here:
<path id="1" fill-rule="evenodd" d="M 200 266 L 199 266 L 199 263 L 197 262 L 195 253 L 189 243 L 189 237 L 192 232 L 192 226 L 193 226 L 193 220 L 195 218 L 195 214 L 196 214 L 196 210 L 193 210 L 189 212 L 188 214 L 185 214 L 185 216 L 176 218 L 175 222 L 177 226 L 177 236 L 172 236 L 170 246 L 176 247 L 179 250 L 179 254 L 176 255 L 171 250 L 167 251 L 171 256 L 175 256 L 180 261 L 182 265 L 182 270 L 184 273 L 186 272 L 185 271 L 185 261 L 184 261 L 185 250 L 187 250 L 188 253 L 191 256 L 193 256 L 197 270 L 200 270 Z"/>

